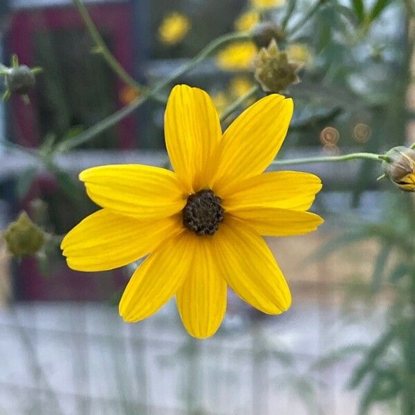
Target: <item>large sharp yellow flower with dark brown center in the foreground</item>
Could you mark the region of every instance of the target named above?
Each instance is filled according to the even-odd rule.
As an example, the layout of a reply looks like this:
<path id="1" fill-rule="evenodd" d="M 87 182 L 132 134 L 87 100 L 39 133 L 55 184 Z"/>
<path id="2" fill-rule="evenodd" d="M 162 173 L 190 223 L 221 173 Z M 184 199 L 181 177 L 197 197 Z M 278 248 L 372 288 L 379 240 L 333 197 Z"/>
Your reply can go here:
<path id="1" fill-rule="evenodd" d="M 264 170 L 284 141 L 293 100 L 268 95 L 222 134 L 209 95 L 175 86 L 165 112 L 174 172 L 147 165 L 93 167 L 80 174 L 102 210 L 62 241 L 68 266 L 110 270 L 147 259 L 133 273 L 120 315 L 137 322 L 176 295 L 181 319 L 196 338 L 218 329 L 227 286 L 268 314 L 291 305 L 291 293 L 261 235 L 312 232 L 322 219 L 306 212 L 320 179 Z"/>

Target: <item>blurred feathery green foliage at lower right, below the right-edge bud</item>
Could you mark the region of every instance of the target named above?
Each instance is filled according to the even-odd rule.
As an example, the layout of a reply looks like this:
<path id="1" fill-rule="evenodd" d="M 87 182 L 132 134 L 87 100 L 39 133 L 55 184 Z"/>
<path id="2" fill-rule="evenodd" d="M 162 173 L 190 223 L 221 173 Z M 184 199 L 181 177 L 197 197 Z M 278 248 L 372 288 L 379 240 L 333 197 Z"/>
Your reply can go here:
<path id="1" fill-rule="evenodd" d="M 394 402 L 401 414 L 415 410 L 415 199 L 410 194 L 388 194 L 378 223 L 359 223 L 336 240 L 322 246 L 317 257 L 338 251 L 348 243 L 378 243 L 371 279 L 358 282 L 345 303 L 365 293 L 369 299 L 387 295 L 387 324 L 374 344 L 350 344 L 317 364 L 321 367 L 358 353 L 349 387 L 360 389 L 362 414 L 376 403 Z M 366 300 L 367 301 L 367 300 Z M 360 316 L 361 317 L 361 316 Z"/>

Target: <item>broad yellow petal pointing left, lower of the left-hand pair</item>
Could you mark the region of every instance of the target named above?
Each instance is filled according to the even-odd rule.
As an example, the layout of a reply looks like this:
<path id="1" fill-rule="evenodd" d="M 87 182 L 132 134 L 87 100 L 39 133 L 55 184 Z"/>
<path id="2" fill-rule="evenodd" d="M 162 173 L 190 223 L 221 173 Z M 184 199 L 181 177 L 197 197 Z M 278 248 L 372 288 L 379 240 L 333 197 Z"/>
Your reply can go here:
<path id="1" fill-rule="evenodd" d="M 73 270 L 111 270 L 147 255 L 180 229 L 177 217 L 138 221 L 103 209 L 68 232 L 61 248 Z"/>

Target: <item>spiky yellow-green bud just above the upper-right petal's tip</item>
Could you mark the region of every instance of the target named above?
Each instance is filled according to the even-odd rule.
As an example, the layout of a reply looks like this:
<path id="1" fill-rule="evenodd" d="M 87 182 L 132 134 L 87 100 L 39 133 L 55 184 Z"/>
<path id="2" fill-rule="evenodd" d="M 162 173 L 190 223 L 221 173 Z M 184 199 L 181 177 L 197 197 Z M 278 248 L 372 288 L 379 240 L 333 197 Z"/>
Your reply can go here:
<path id="1" fill-rule="evenodd" d="M 301 65 L 289 62 L 284 51 L 280 51 L 273 39 L 268 48 L 261 48 L 255 58 L 255 79 L 266 92 L 284 91 L 288 85 L 297 84 L 297 72 Z"/>

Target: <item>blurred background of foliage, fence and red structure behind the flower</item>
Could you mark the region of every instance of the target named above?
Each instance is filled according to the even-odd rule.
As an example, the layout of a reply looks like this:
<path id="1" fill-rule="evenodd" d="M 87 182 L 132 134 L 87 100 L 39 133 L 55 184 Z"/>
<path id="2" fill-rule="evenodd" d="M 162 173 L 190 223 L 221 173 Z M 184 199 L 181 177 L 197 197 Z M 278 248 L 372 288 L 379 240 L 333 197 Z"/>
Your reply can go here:
<path id="1" fill-rule="evenodd" d="M 142 84 L 169 76 L 219 35 L 273 21 L 301 78 L 287 87 L 295 114 L 279 158 L 415 141 L 413 0 L 86 6 L 111 53 Z M 122 322 L 118 299 L 135 266 L 68 269 L 60 237 L 97 209 L 77 174 L 168 162 L 169 88 L 62 151 L 139 94 L 94 46 L 71 1 L 0 3 L 0 62 L 9 66 L 16 53 L 21 64 L 43 68 L 29 103 L 0 103 L 0 229 L 26 210 L 52 235 L 21 259 L 0 244 L 0 414 L 414 414 L 415 199 L 376 181 L 382 172 L 371 160 L 289 167 L 322 178 L 313 210 L 326 223 L 304 237 L 268 239 L 293 291 L 283 315 L 257 313 L 230 293 L 218 333 L 197 341 L 174 300 L 144 322 Z M 177 83 L 207 90 L 225 111 L 255 84 L 256 52 L 246 42 Z"/>

